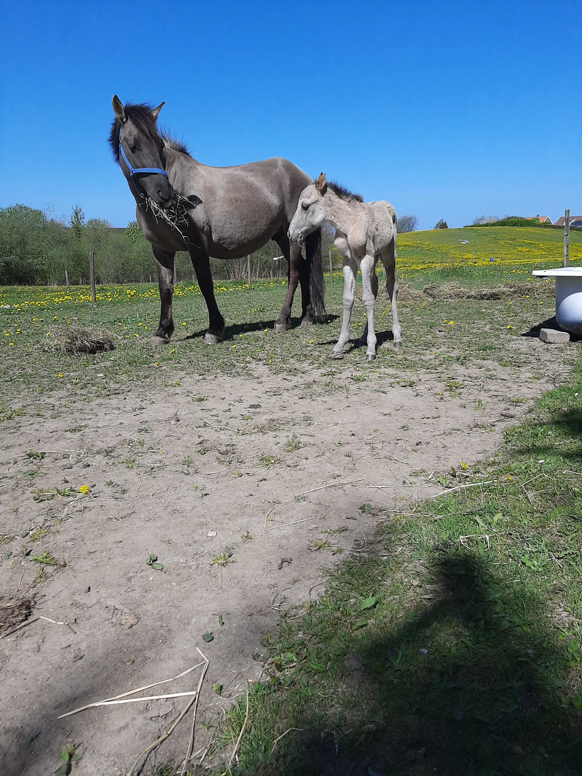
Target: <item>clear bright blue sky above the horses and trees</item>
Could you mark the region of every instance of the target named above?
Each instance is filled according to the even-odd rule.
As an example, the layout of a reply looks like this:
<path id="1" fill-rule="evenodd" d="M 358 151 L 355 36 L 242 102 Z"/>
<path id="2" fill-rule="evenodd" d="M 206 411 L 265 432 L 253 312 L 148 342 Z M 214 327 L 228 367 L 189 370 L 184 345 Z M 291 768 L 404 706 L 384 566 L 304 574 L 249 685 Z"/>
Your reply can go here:
<path id="1" fill-rule="evenodd" d="M 283 156 L 430 229 L 582 213 L 575 2 L 4 2 L 0 206 L 114 226 L 114 93 L 207 165 Z"/>

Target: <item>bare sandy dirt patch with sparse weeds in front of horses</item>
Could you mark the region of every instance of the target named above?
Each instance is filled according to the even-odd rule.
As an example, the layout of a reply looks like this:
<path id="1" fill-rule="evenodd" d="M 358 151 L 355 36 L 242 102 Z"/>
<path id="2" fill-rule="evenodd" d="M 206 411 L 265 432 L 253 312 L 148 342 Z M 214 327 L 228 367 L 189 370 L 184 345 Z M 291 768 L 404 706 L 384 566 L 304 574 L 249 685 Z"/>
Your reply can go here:
<path id="1" fill-rule="evenodd" d="M 0 641 L 0 772 L 52 773 L 74 741 L 80 774 L 125 774 L 189 698 L 57 715 L 180 674 L 199 663 L 196 647 L 210 660 L 203 753 L 222 708 L 261 677 L 265 633 L 317 596 L 338 548 L 373 546 L 376 521 L 441 492 L 450 466 L 494 452 L 505 426 L 566 377 L 563 346 L 511 348 L 508 367 L 469 360 L 438 379 L 396 365 L 363 379 L 340 365 L 333 381 L 322 370 L 185 376 L 158 395 L 136 386 L 66 411 L 53 395 L 41 417 L 3 424 L 0 595 L 33 603 L 29 625 Z M 58 565 L 33 560 L 44 552 Z M 139 695 L 198 679 L 196 669 Z M 191 715 L 158 763 L 180 763 Z"/>

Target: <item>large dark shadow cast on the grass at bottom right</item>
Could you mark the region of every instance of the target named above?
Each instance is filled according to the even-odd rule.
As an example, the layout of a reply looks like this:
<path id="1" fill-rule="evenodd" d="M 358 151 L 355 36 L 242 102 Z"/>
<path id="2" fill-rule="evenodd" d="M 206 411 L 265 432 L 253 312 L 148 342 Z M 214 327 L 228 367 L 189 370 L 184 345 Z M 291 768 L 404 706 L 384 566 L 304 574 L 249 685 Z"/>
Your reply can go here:
<path id="1" fill-rule="evenodd" d="M 320 694 L 319 711 L 296 719 L 303 739 L 289 745 L 286 764 L 259 773 L 582 774 L 579 712 L 560 696 L 566 653 L 554 646 L 542 601 L 456 548 L 438 549 L 430 573 L 435 603 L 352 655 L 336 653 L 361 664 L 347 678 L 363 691 L 354 708 L 334 724 Z M 362 710 L 366 724 L 351 725 Z"/>

